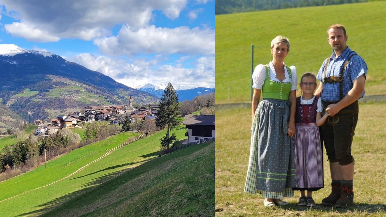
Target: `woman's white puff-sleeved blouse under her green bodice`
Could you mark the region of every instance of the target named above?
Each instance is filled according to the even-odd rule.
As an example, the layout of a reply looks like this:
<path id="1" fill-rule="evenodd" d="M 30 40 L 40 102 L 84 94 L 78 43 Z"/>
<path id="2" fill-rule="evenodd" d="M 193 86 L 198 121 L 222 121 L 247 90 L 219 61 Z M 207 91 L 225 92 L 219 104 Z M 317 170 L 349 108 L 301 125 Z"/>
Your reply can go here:
<path id="1" fill-rule="evenodd" d="M 284 66 L 285 66 L 285 64 L 284 64 Z M 296 84 L 298 83 L 298 77 L 296 76 L 296 67 L 290 66 L 289 68 L 291 69 L 291 74 L 292 74 L 291 91 L 293 91 L 293 90 L 296 90 Z M 275 71 L 275 68 L 273 67 L 272 62 L 269 62 L 269 76 L 271 77 L 271 80 L 280 82 L 276 78 L 276 71 Z M 281 82 L 289 82 L 290 80 L 289 80 L 289 74 L 287 71 L 287 67 L 284 67 L 284 76 L 286 77 L 286 79 L 284 79 Z M 265 77 L 266 77 L 265 65 L 262 65 L 262 64 L 257 65 L 255 70 L 253 71 L 253 74 L 252 74 L 252 79 L 253 79 L 252 87 L 255 89 L 262 89 Z"/>

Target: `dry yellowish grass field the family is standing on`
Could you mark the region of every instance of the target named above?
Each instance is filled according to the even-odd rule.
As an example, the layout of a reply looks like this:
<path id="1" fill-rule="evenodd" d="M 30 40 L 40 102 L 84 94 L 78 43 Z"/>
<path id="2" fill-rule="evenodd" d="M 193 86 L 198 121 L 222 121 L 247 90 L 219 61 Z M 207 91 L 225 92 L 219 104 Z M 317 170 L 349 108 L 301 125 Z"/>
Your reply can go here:
<path id="1" fill-rule="evenodd" d="M 354 205 L 349 209 L 320 207 L 320 202 L 331 190 L 330 170 L 327 156 L 323 150 L 325 188 L 313 193 L 317 203 L 314 209 L 300 208 L 297 205 L 300 193 L 295 197 L 284 198 L 289 205 L 269 209 L 264 207 L 263 199 L 257 195 L 244 193 L 249 149 L 251 142 L 250 109 L 222 109 L 216 117 L 216 216 L 386 216 L 383 190 L 386 184 L 386 104 L 360 104 L 359 119 L 352 144 L 355 158 Z M 247 114 L 247 115 L 240 115 Z M 383 117 L 382 119 L 380 119 Z M 378 166 L 379 165 L 379 166 Z"/>

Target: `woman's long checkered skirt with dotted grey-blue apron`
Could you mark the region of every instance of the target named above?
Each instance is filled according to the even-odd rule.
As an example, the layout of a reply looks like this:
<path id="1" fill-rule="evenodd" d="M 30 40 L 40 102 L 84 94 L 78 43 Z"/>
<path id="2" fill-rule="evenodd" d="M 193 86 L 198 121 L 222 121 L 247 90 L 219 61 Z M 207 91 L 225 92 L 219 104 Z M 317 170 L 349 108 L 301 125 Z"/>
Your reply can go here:
<path id="1" fill-rule="evenodd" d="M 263 99 L 256 109 L 244 192 L 266 198 L 293 197 L 295 165 L 287 136 L 289 103 Z"/>

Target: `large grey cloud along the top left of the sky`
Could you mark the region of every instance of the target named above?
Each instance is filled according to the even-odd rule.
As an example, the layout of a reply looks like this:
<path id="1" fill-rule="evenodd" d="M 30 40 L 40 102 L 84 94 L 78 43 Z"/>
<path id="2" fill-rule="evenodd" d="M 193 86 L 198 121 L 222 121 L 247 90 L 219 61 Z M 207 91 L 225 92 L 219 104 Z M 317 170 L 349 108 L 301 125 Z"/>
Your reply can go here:
<path id="1" fill-rule="evenodd" d="M 9 24 L 7 32 L 38 42 L 60 38 L 91 40 L 110 34 L 108 29 L 121 23 L 138 29 L 149 24 L 153 10 L 161 10 L 173 20 L 186 3 L 187 0 L 2 0 L 8 15 L 20 19 Z"/>

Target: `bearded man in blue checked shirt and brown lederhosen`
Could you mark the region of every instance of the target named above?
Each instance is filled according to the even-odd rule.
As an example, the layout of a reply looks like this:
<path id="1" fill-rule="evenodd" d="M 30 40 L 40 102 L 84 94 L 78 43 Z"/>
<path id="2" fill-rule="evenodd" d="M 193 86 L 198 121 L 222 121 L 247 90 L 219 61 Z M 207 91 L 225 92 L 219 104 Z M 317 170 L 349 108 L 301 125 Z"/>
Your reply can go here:
<path id="1" fill-rule="evenodd" d="M 315 92 L 329 115 L 320 126 L 320 134 L 330 161 L 332 192 L 322 200 L 322 205 L 348 207 L 354 202 L 351 143 L 358 120 L 358 99 L 364 95 L 367 66 L 347 46 L 343 25 L 330 26 L 327 34 L 334 52 L 319 69 L 317 78 L 321 82 Z"/>

